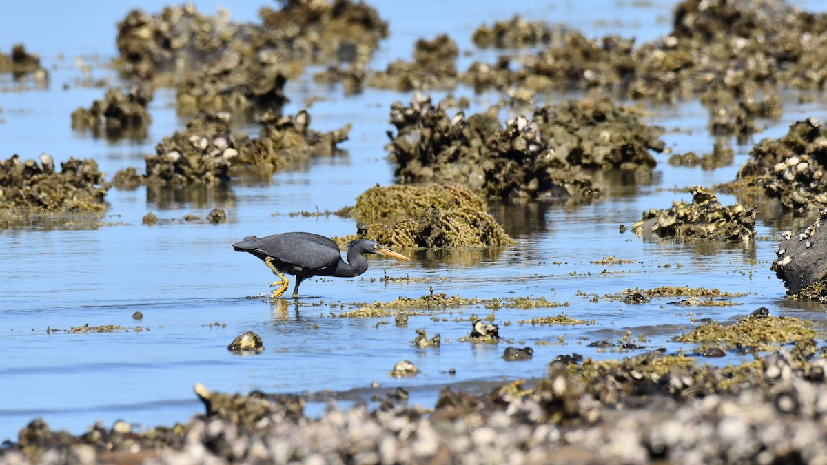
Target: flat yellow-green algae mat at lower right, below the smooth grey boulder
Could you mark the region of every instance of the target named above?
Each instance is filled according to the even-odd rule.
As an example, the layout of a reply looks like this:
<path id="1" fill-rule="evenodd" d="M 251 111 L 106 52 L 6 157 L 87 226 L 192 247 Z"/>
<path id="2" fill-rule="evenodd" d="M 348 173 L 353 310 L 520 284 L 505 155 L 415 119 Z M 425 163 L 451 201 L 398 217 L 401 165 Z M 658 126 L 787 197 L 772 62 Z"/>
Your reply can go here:
<path id="1" fill-rule="evenodd" d="M 792 317 L 749 316 L 734 324 L 701 324 L 690 333 L 672 340 L 677 343 L 718 343 L 725 348 L 734 348 L 740 343 L 755 346 L 758 350 L 772 350 L 774 344 L 812 339 L 817 335 L 810 321 Z"/>

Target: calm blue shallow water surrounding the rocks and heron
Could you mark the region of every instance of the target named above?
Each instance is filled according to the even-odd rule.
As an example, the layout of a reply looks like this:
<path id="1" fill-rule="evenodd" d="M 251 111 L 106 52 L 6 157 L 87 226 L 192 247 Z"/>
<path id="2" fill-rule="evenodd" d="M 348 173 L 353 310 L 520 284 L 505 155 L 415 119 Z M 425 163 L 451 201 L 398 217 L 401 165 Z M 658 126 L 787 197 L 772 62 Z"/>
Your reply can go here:
<path id="1" fill-rule="evenodd" d="M 51 3 L 51 2 L 49 2 Z M 151 103 L 153 122 L 142 140 L 108 141 L 88 132 L 74 132 L 69 113 L 103 96 L 104 89 L 84 85 L 90 77 L 117 78 L 103 66 L 115 54 L 115 24 L 130 9 L 120 3 L 90 2 L 83 20 L 71 7 L 55 2 L 49 7 L 16 7 L 0 17 L 0 44 L 7 49 L 23 42 L 41 55 L 49 68 L 48 87 L 19 84 L 0 77 L 0 140 L 2 157 L 36 157 L 41 151 L 65 161 L 69 156 L 91 157 L 109 177 L 126 166 L 142 170 L 143 156 L 156 141 L 186 122 L 174 109 L 174 93 L 160 90 Z M 141 2 L 147 12 L 164 4 Z M 196 2 L 203 13 L 215 11 L 215 2 Z M 256 10 L 248 2 L 227 2 L 232 17 L 253 21 Z M 818 2 L 801 2 L 810 11 Z M 589 36 L 619 33 L 637 36 L 638 43 L 669 29 L 672 2 L 606 0 L 590 8 L 581 2 L 476 2 L 475 7 L 454 2 L 379 2 L 380 15 L 390 22 L 391 36 L 375 54 L 374 68 L 397 58 L 409 59 L 418 37 L 449 32 L 461 50 L 472 50 L 471 32 L 483 22 L 506 19 L 515 13 L 548 22 L 565 22 Z M 822 7 L 823 8 L 823 7 Z M 471 60 L 492 51 L 462 56 Z M 78 59 L 92 65 L 89 74 Z M 66 84 L 67 89 L 63 89 Z M 667 155 L 657 155 L 658 166 L 650 185 L 615 182 L 603 199 L 577 207 L 547 204 L 491 204 L 490 211 L 518 240 L 514 247 L 487 251 L 415 252 L 414 261 L 370 261 L 365 275 L 352 280 L 308 280 L 303 295 L 271 300 L 273 276 L 255 257 L 232 251 L 230 244 L 250 234 L 312 231 L 343 235 L 354 232 L 351 219 L 335 215 L 290 216 L 301 211 L 335 211 L 354 204 L 357 194 L 379 183 L 393 183 L 392 168 L 383 146 L 390 128 L 388 113 L 394 100 L 410 94 L 366 89 L 345 97 L 336 86 L 327 88 L 306 78 L 286 89 L 292 103 L 284 113 L 295 113 L 307 98 L 321 97 L 309 112 L 312 128 L 320 131 L 351 122 L 351 139 L 344 156 L 320 158 L 296 170 L 277 173 L 270 182 L 238 179 L 229 185 L 195 189 L 111 189 L 108 216 L 100 228 L 74 231 L 44 230 L 37 225 L 0 231 L 0 439 L 16 439 L 17 430 L 36 417 L 53 428 L 83 431 L 100 419 L 116 419 L 149 427 L 184 421 L 202 410 L 192 387 L 201 382 L 218 391 L 261 390 L 272 393 L 324 393 L 323 402 L 347 402 L 383 395 L 397 386 L 411 393 L 411 402 L 433 405 L 446 384 L 484 390 L 487 381 L 532 378 L 545 374 L 547 362 L 560 354 L 622 357 L 635 352 L 600 352 L 588 348 L 595 340 L 617 340 L 631 332 L 643 334 L 648 349 L 681 348 L 672 343 L 677 333 L 691 328 L 691 318 L 732 319 L 767 306 L 772 314 L 814 319 L 824 329 L 825 310 L 817 304 L 784 300 L 784 287 L 769 271 L 782 229 L 806 224 L 802 218 L 782 215 L 771 205 L 759 215 L 758 240 L 744 246 L 721 243 L 678 244 L 647 242 L 619 225 L 630 226 L 641 211 L 666 208 L 672 200 L 688 198 L 667 190 L 688 185 L 715 185 L 732 180 L 747 159 L 749 148 L 763 137 L 780 137 L 789 122 L 804 117 L 825 121 L 823 101 L 798 105 L 786 98 L 779 121 L 763 121 L 766 130 L 744 145 L 734 145 L 735 161 L 716 170 L 675 168 Z M 457 97 L 471 98 L 470 112 L 487 108 L 496 96 L 475 96 L 459 88 Z M 442 93 L 432 93 L 439 98 Z M 556 96 L 554 98 L 564 98 Z M 706 131 L 706 111 L 696 102 L 671 108 L 651 108 L 652 122 L 670 131 L 663 137 L 676 153 L 709 151 L 713 139 Z M 254 131 L 254 127 L 244 127 Z M 679 130 L 672 130 L 678 128 Z M 735 144 L 735 141 L 731 141 Z M 724 204 L 734 198 L 719 197 Z M 204 217 L 213 208 L 227 210 L 227 223 L 185 223 L 185 213 Z M 141 217 L 155 212 L 162 221 L 141 225 Z M 766 213 L 765 213 L 766 212 Z M 607 256 L 632 260 L 624 265 L 591 263 Z M 409 276 L 409 282 L 385 284 L 380 277 Z M 676 307 L 672 300 L 627 305 L 590 295 L 608 295 L 633 287 L 660 285 L 717 287 L 747 292 L 732 307 Z M 460 343 L 467 335 L 471 314 L 487 316 L 490 309 L 472 306 L 432 316 L 411 316 L 406 327 L 391 318 L 342 319 L 337 314 L 352 305 L 390 301 L 400 295 L 419 297 L 429 292 L 477 297 L 545 296 L 568 303 L 553 309 L 498 309 L 495 323 L 505 341 L 499 345 Z M 583 295 L 585 294 L 585 296 Z M 141 311 L 141 320 L 132 314 Z M 519 320 L 565 312 L 595 324 L 536 326 Z M 458 321 L 465 320 L 465 321 Z M 117 333 L 65 333 L 84 324 L 115 324 L 129 328 Z M 141 330 L 137 330 L 140 327 Z M 417 349 L 409 344 L 415 328 L 428 335 L 440 333 L 442 347 Z M 239 333 L 254 331 L 264 340 L 265 352 L 239 357 L 227 344 Z M 449 342 L 450 341 L 450 342 Z M 532 360 L 505 362 L 508 345 L 534 348 Z M 644 349 L 646 350 L 646 349 Z M 388 372 L 395 362 L 408 359 L 422 372 L 395 379 Z M 731 355 L 713 361 L 737 363 Z M 448 373 L 456 370 L 456 375 Z M 380 388 L 370 387 L 371 382 Z M 311 405 L 309 411 L 318 411 Z"/>

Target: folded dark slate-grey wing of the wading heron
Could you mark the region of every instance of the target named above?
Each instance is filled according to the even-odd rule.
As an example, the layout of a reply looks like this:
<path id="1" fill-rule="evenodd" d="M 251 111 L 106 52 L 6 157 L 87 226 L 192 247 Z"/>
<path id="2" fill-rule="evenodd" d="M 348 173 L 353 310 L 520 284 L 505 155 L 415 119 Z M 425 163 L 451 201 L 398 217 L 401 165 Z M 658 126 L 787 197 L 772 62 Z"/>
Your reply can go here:
<path id="1" fill-rule="evenodd" d="M 284 232 L 272 236 L 242 241 L 256 252 L 284 261 L 306 270 L 322 270 L 336 266 L 342 259 L 342 252 L 327 237 L 312 232 Z"/>

